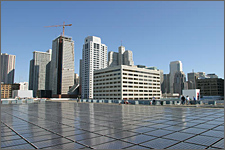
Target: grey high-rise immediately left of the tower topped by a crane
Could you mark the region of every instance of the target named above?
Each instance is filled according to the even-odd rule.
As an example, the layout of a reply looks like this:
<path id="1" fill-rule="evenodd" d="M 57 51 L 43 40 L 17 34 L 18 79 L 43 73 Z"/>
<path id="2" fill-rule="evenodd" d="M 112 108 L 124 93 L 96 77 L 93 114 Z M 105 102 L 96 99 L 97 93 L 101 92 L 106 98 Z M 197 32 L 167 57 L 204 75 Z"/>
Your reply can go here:
<path id="1" fill-rule="evenodd" d="M 34 97 L 37 90 L 50 90 L 51 55 L 51 49 L 46 52 L 33 52 L 33 59 L 30 61 L 29 90 L 33 90 Z"/>

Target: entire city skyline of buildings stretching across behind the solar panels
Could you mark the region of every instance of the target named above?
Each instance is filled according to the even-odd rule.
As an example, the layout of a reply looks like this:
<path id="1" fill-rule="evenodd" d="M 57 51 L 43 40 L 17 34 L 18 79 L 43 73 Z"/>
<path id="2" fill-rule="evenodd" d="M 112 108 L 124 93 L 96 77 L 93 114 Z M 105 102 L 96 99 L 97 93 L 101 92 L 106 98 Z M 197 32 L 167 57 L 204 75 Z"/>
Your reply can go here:
<path id="1" fill-rule="evenodd" d="M 170 62 L 170 72 L 164 74 L 154 66 L 134 65 L 132 51 L 122 45 L 118 52 L 107 51 L 101 38 L 86 37 L 78 75 L 74 73 L 74 41 L 59 36 L 52 41 L 52 49 L 33 52 L 29 84 L 14 83 L 16 56 L 1 53 L 1 98 L 149 100 L 178 97 L 188 89 L 200 89 L 203 97 L 224 97 L 224 79 L 216 74 L 193 71 L 186 78 L 181 61 Z"/>

